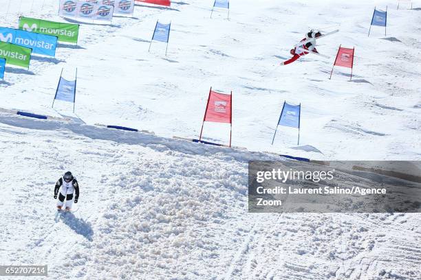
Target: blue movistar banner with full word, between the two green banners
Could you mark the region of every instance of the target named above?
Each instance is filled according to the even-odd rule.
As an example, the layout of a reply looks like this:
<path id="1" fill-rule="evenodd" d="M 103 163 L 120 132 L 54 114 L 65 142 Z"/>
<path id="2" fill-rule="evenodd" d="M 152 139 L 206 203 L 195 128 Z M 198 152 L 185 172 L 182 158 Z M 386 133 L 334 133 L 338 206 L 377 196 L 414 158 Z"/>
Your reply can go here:
<path id="1" fill-rule="evenodd" d="M 8 27 L 0 27 L 0 40 L 21 47 L 29 47 L 32 54 L 56 56 L 57 37 Z"/>

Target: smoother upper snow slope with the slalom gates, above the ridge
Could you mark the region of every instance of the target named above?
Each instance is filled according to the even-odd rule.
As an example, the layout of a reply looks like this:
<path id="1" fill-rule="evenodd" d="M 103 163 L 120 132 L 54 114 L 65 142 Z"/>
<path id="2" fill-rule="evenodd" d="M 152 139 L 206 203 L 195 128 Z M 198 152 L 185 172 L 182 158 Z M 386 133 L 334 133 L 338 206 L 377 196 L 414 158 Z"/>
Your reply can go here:
<path id="1" fill-rule="evenodd" d="M 2 6 L 7 0 L 0 0 Z M 44 10 L 41 11 L 44 2 Z M 57 115 L 51 108 L 64 67 L 78 67 L 76 113 L 88 124 L 119 124 L 164 137 L 197 137 L 210 86 L 233 91 L 233 145 L 252 150 L 286 150 L 296 130 L 281 128 L 271 146 L 284 100 L 302 104 L 301 144 L 319 159 L 420 159 L 420 10 L 394 10 L 388 1 L 232 1 L 209 18 L 213 1 L 175 1 L 171 8 L 137 5 L 134 19 L 111 25 L 82 23 L 79 46 L 61 45 L 56 58 L 34 57 L 30 71 L 6 69 L 0 104 Z M 56 1 L 22 0 L 21 14 L 58 20 Z M 374 5 L 389 4 L 388 33 L 373 27 Z M 421 4 L 420 4 L 421 5 Z M 415 3 L 416 7 L 416 3 Z M 0 16 L 17 27 L 18 5 Z M 149 40 L 157 20 L 172 22 L 169 54 Z M 71 20 L 69 20 L 71 21 Z M 339 25 L 332 27 L 333 25 Z M 319 42 L 331 56 L 307 56 L 277 68 L 309 27 L 340 33 Z M 330 70 L 338 46 L 356 47 L 354 81 L 349 69 Z M 58 102 L 60 103 L 60 102 Z M 71 110 L 58 104 L 58 110 Z M 214 127 L 219 130 L 210 130 Z M 205 125 L 205 137 L 228 142 L 228 127 Z M 369 152 L 368 152 L 369 151 Z"/>

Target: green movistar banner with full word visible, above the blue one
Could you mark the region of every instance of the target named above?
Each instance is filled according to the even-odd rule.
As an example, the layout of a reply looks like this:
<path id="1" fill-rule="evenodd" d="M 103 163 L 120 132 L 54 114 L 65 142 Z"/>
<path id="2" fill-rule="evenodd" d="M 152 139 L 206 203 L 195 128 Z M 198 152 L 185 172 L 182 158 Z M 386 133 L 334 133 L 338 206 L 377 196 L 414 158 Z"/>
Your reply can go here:
<path id="1" fill-rule="evenodd" d="M 78 43 L 79 25 L 57 23 L 43 19 L 31 19 L 21 16 L 19 29 L 58 37 L 58 42 Z"/>

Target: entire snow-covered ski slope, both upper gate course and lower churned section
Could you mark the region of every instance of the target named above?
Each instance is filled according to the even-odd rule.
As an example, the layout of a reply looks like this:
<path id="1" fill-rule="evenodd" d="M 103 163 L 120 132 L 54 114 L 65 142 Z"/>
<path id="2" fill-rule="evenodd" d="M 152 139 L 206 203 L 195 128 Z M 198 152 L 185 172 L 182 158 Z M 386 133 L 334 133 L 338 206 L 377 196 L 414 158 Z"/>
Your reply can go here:
<path id="1" fill-rule="evenodd" d="M 32 11 L 22 2 L 25 16 L 61 21 L 56 1 L 34 0 Z M 34 57 L 30 71 L 6 67 L 0 106 L 54 116 L 72 115 L 66 104 L 50 107 L 61 68 L 72 77 L 78 67 L 82 120 L 0 114 L 0 263 L 48 264 L 49 279 L 421 279 L 420 215 L 247 213 L 247 162 L 278 157 L 171 139 L 198 134 L 213 86 L 234 92 L 233 145 L 420 159 L 419 11 L 392 6 L 387 38 L 380 27 L 367 38 L 374 4 L 320 3 L 232 1 L 229 21 L 225 11 L 208 19 L 207 1 L 136 5 L 134 19 L 82 23 L 78 46 Z M 2 26 L 17 18 L 17 5 L 0 12 Z M 167 57 L 156 42 L 147 53 L 157 19 L 173 21 Z M 307 31 L 296 23 L 341 23 L 318 48 L 334 56 L 340 43 L 355 45 L 353 82 L 340 67 L 327 79 L 333 58 L 276 68 Z M 303 104 L 301 144 L 314 149 L 286 148 L 296 132 L 285 128 L 270 145 L 284 100 Z M 206 126 L 206 139 L 225 141 L 220 128 Z M 69 169 L 80 200 L 56 215 L 54 184 Z"/>

